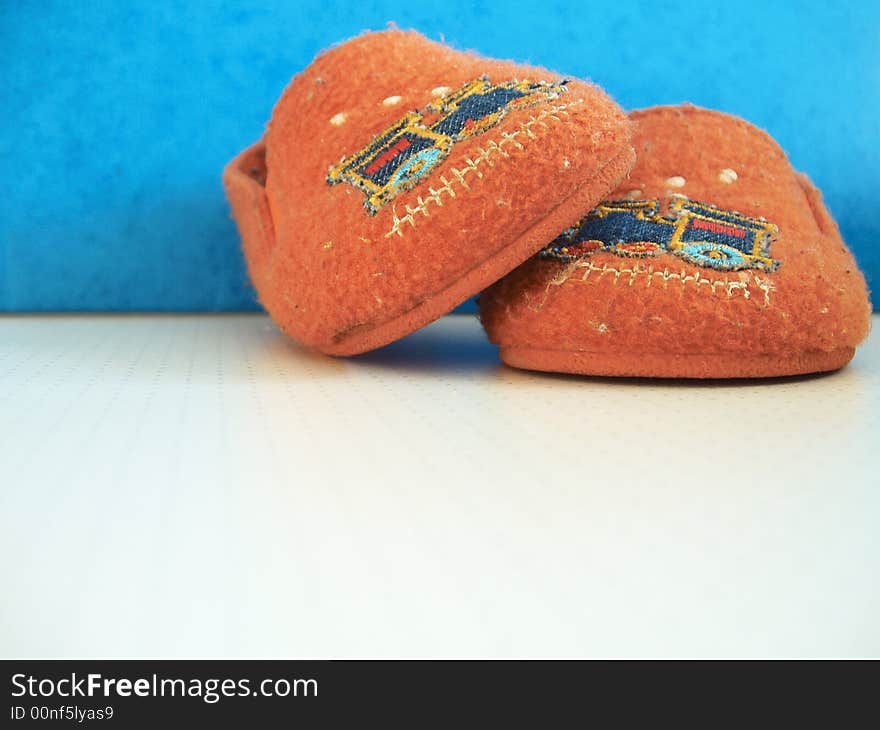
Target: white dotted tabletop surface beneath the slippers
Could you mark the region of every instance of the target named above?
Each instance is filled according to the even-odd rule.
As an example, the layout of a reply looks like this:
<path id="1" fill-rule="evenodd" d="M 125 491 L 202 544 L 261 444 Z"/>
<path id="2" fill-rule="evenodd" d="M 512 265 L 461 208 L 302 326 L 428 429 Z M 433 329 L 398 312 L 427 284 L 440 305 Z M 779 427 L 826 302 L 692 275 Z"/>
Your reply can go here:
<path id="1" fill-rule="evenodd" d="M 0 318 L 0 654 L 877 656 L 878 372 L 877 336 L 700 385 L 508 369 L 470 317 L 347 361 Z"/>

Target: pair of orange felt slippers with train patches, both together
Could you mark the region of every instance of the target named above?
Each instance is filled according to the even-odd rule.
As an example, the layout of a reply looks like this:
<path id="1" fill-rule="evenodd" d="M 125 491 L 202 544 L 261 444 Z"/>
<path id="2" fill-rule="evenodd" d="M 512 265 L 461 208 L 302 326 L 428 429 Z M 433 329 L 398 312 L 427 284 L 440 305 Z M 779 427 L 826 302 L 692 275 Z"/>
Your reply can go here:
<path id="1" fill-rule="evenodd" d="M 260 301 L 331 355 L 482 292 L 509 365 L 734 378 L 835 370 L 865 281 L 764 132 L 417 33 L 368 33 L 294 78 L 224 182 Z"/>

